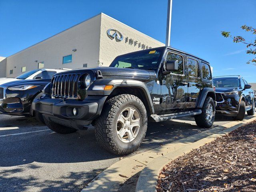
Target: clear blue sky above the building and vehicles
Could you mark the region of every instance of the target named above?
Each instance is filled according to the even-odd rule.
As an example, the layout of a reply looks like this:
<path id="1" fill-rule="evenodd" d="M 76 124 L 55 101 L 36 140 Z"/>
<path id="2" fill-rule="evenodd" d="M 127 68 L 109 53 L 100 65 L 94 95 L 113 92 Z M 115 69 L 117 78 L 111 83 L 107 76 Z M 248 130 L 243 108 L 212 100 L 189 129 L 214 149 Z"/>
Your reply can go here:
<path id="1" fill-rule="evenodd" d="M 165 42 L 167 0 L 0 0 L 0 56 L 10 56 L 103 12 Z M 171 45 L 208 60 L 214 76 L 240 74 L 256 82 L 246 46 L 221 31 L 253 40 L 240 29 L 256 27 L 256 0 L 173 0 Z"/>

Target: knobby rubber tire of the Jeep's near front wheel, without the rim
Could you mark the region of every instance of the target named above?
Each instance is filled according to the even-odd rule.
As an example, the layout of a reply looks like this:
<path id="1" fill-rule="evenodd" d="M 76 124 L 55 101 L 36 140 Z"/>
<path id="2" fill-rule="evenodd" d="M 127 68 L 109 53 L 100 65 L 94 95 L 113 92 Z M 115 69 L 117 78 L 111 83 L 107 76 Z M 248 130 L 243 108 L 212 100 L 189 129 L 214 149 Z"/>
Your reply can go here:
<path id="1" fill-rule="evenodd" d="M 118 138 L 116 123 L 120 112 L 127 107 L 135 108 L 140 115 L 140 130 L 129 143 Z M 143 142 L 148 126 L 148 117 L 143 102 L 136 96 L 121 94 L 108 99 L 100 116 L 94 122 L 96 140 L 105 150 L 116 155 L 131 154 Z"/>

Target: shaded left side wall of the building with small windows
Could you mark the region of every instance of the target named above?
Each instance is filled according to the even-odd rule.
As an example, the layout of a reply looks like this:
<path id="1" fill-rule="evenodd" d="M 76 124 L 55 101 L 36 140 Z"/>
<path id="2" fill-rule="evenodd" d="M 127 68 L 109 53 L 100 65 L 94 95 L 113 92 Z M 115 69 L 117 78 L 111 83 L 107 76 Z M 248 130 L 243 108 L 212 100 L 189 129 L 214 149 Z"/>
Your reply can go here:
<path id="1" fill-rule="evenodd" d="M 23 66 L 26 66 L 26 71 L 34 70 L 38 68 L 38 62 L 44 62 L 44 68 L 74 69 L 82 68 L 86 63 L 88 67 L 98 66 L 100 18 L 99 14 L 8 57 L 6 76 L 20 75 Z M 76 52 L 73 52 L 73 49 L 76 49 Z M 72 54 L 72 63 L 62 64 L 62 56 L 69 54 Z M 11 75 L 10 70 L 13 70 Z"/>

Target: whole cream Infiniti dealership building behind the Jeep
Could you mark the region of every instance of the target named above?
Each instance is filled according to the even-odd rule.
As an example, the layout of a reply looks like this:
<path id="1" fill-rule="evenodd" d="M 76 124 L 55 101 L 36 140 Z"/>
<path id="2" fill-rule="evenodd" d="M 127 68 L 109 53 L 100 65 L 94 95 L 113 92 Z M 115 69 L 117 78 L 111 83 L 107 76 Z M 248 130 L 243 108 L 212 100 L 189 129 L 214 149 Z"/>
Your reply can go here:
<path id="1" fill-rule="evenodd" d="M 16 77 L 36 68 L 109 66 L 120 55 L 164 46 L 100 13 L 46 40 L 0 60 L 0 77 Z"/>

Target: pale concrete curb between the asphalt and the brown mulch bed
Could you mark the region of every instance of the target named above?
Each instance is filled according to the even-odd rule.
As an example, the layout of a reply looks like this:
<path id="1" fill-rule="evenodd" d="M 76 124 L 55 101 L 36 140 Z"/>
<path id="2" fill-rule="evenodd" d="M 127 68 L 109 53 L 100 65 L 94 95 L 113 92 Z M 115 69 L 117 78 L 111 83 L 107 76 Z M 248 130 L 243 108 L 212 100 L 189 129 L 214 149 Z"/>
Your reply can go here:
<path id="1" fill-rule="evenodd" d="M 170 162 L 170 160 L 172 160 L 175 156 L 181 156 L 185 152 L 189 152 L 191 149 L 188 150 L 188 146 L 194 146 L 194 148 L 197 148 L 197 144 L 201 143 L 201 145 L 203 145 L 207 142 L 207 140 L 203 140 L 202 142 L 201 140 L 203 138 L 210 138 L 214 134 L 219 134 L 220 132 L 223 132 L 222 134 L 226 134 L 228 128 L 234 130 L 235 128 L 232 128 L 233 126 L 238 128 L 242 124 L 252 120 L 256 120 L 256 117 L 242 122 L 229 122 L 222 126 L 218 126 L 178 141 L 165 144 L 144 153 L 124 158 L 100 173 L 81 192 L 116 192 L 129 178 L 138 177 L 139 172 L 141 171 L 142 172 L 136 186 L 136 191 L 155 191 L 158 174 L 162 167 Z M 215 138 L 216 137 L 213 137 L 211 139 L 214 140 Z M 152 172 L 152 170 L 154 170 L 154 172 Z M 146 183 L 143 183 L 145 181 Z"/>

